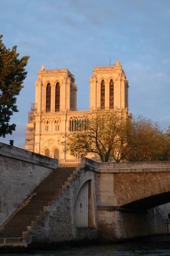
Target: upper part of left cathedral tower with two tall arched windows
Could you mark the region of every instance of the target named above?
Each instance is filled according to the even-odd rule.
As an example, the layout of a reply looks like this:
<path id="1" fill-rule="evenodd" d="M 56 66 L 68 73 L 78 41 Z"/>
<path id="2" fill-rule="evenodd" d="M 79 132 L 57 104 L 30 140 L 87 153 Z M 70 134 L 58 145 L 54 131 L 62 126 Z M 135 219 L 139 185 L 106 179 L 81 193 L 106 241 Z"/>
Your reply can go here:
<path id="1" fill-rule="evenodd" d="M 45 70 L 42 65 L 35 85 L 38 113 L 77 109 L 77 86 L 68 69 Z"/>

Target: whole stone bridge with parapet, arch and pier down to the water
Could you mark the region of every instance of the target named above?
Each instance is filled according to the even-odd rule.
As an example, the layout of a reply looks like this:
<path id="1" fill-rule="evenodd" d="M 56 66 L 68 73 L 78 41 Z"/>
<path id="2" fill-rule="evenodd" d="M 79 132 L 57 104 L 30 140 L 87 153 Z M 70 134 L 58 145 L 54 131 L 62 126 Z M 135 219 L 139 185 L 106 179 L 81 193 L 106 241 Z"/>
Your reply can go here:
<path id="1" fill-rule="evenodd" d="M 103 238 L 167 234 L 167 214 L 157 206 L 170 202 L 170 162 L 98 163 L 96 172 L 98 232 Z"/>

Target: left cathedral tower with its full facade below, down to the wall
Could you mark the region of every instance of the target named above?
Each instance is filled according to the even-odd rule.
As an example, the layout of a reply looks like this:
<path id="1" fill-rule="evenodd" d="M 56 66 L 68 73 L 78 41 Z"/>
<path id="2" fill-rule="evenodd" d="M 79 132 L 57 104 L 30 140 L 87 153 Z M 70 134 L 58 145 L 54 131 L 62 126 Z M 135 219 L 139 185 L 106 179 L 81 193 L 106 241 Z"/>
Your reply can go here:
<path id="1" fill-rule="evenodd" d="M 51 147 L 62 151 L 60 142 L 66 131 L 65 113 L 77 111 L 75 78 L 66 68 L 46 70 L 42 65 L 35 86 L 35 104 L 27 124 L 26 149 L 54 157 Z M 65 158 L 64 153 L 56 152 L 55 157 Z"/>

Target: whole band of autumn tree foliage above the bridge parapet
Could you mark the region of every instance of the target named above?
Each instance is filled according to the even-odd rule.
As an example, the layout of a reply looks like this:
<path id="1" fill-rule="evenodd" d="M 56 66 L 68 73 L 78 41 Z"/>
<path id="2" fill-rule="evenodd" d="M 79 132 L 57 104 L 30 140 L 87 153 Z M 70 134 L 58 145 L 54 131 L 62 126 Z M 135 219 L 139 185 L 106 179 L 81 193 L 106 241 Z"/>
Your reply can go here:
<path id="1" fill-rule="evenodd" d="M 75 157 L 98 156 L 104 162 L 170 160 L 169 131 L 162 132 L 143 116 L 132 120 L 115 111 L 98 111 L 89 116 L 86 131 L 68 134 L 66 151 Z"/>

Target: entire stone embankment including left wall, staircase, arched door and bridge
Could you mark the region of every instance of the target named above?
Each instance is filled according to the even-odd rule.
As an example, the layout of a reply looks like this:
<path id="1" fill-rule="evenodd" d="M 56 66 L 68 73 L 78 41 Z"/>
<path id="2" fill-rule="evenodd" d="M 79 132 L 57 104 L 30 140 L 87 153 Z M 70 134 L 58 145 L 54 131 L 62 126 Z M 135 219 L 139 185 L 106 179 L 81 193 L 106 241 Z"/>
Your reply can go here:
<path id="1" fill-rule="evenodd" d="M 0 246 L 166 234 L 170 162 L 77 167 L 0 143 Z M 170 207 L 169 207 L 170 212 Z"/>

